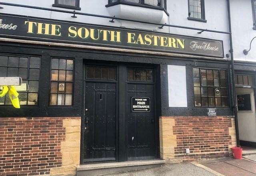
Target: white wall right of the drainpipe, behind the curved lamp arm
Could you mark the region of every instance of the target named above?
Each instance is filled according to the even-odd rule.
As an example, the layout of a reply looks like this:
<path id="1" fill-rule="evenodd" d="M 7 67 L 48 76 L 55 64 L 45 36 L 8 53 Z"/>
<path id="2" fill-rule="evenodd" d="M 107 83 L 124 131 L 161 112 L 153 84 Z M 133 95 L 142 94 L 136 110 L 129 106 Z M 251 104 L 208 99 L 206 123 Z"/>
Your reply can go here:
<path id="1" fill-rule="evenodd" d="M 256 62 L 256 40 L 248 55 L 243 50 L 250 48 L 250 41 L 256 36 L 253 30 L 252 0 L 230 0 L 234 60 Z"/>

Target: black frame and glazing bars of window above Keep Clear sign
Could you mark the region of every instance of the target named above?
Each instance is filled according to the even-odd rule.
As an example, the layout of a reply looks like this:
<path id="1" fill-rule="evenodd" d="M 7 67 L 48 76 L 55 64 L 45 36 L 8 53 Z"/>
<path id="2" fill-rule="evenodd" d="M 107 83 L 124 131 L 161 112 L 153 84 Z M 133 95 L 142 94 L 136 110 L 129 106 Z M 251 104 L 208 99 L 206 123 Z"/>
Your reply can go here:
<path id="1" fill-rule="evenodd" d="M 199 77 L 194 77 L 194 68 L 196 68 L 196 69 L 199 69 Z M 214 79 L 218 79 L 219 80 L 219 86 L 208 86 L 208 83 L 206 83 L 206 85 L 202 85 L 202 78 L 206 78 L 206 81 L 207 81 L 207 79 L 208 79 L 208 76 L 206 75 L 206 77 L 202 77 L 202 75 L 201 75 L 201 70 L 206 70 L 206 74 L 207 74 L 207 71 L 208 70 L 212 70 L 213 72 L 213 77 L 212 77 L 212 79 L 214 80 Z M 216 70 L 216 71 L 218 71 L 218 78 L 214 78 L 214 70 Z M 222 80 L 222 78 L 221 78 L 221 76 L 220 76 L 220 71 L 221 70 L 223 70 L 223 71 L 225 71 L 225 76 L 226 76 L 226 87 L 222 87 L 221 86 L 221 80 Z M 226 70 L 226 69 L 219 69 L 219 68 L 204 68 L 204 67 L 193 67 L 193 75 L 192 75 L 192 78 L 193 78 L 193 99 L 194 99 L 194 107 L 195 108 L 229 108 L 230 107 L 230 93 L 229 93 L 229 85 L 228 85 L 228 70 Z M 199 88 L 200 88 L 200 96 L 196 96 L 195 95 L 195 92 L 194 92 L 194 88 L 195 87 L 197 87 L 198 88 L 198 86 L 194 86 L 194 78 L 199 78 Z M 213 82 L 214 83 L 214 82 Z M 202 87 L 203 88 L 206 88 L 207 89 L 207 96 L 202 96 Z M 208 88 L 214 88 L 215 90 L 216 89 L 226 89 L 226 94 L 227 94 L 227 96 L 222 96 L 222 95 L 220 95 L 220 96 L 217 96 L 217 98 L 220 98 L 220 100 L 221 100 L 221 106 L 216 106 L 216 100 L 215 100 L 215 98 L 216 98 L 216 96 L 214 95 L 214 96 L 209 96 L 208 95 Z M 214 94 L 215 94 L 215 91 L 214 91 Z M 195 104 L 195 98 L 196 97 L 200 97 L 200 100 L 201 100 L 201 106 L 196 106 L 196 104 Z M 208 106 L 202 106 L 202 97 L 207 97 L 207 104 L 208 104 Z M 213 97 L 214 98 L 214 105 L 215 106 L 209 106 L 209 97 Z M 222 98 L 226 98 L 226 101 L 227 101 L 227 106 L 222 106 Z"/>

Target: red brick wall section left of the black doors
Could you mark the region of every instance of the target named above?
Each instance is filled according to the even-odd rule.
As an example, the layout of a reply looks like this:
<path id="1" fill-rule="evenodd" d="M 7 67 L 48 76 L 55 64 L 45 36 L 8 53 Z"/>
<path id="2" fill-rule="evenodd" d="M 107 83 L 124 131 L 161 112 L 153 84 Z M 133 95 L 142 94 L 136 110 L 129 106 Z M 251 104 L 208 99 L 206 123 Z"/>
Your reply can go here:
<path id="1" fill-rule="evenodd" d="M 50 174 L 62 166 L 64 119 L 0 118 L 0 175 Z"/>

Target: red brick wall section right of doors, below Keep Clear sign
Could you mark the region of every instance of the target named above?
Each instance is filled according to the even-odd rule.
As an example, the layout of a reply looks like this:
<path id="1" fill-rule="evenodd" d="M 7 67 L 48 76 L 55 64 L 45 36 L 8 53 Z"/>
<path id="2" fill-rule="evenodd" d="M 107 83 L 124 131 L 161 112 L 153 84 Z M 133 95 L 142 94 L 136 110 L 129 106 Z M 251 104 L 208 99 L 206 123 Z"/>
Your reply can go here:
<path id="1" fill-rule="evenodd" d="M 227 117 L 173 117 L 173 134 L 177 138 L 174 157 L 183 161 L 229 156 L 231 145 L 229 128 L 231 118 Z M 186 154 L 190 148 L 190 154 Z"/>

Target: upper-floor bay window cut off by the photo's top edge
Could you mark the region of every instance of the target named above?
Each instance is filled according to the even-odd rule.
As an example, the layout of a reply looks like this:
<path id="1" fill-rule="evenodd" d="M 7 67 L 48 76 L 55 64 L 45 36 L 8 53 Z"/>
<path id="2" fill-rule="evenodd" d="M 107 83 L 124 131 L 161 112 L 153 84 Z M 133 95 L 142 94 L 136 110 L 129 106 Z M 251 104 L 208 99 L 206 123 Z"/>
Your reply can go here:
<path id="1" fill-rule="evenodd" d="M 166 9 L 166 0 L 109 0 L 108 4 L 131 4 Z"/>

